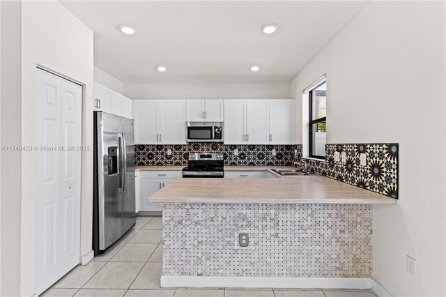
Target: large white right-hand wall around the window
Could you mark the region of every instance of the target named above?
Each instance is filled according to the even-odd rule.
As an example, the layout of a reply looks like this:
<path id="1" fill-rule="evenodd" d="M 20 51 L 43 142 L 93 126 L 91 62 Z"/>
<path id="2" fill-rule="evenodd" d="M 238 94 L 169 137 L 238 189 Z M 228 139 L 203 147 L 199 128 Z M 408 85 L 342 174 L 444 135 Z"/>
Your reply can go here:
<path id="1" fill-rule="evenodd" d="M 292 81 L 301 102 L 327 73 L 327 143 L 400 144 L 399 204 L 373 221 L 374 279 L 392 296 L 446 295 L 445 62 L 444 1 L 371 1 Z"/>

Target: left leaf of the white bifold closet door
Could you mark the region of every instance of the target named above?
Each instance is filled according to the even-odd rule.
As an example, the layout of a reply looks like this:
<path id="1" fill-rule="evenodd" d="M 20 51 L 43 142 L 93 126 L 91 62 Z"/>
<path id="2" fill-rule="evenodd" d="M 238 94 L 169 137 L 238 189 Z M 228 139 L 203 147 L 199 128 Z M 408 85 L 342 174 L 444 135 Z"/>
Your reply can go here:
<path id="1" fill-rule="evenodd" d="M 61 158 L 54 148 L 61 140 L 61 79 L 38 70 L 37 92 L 36 289 L 40 294 L 59 280 Z"/>

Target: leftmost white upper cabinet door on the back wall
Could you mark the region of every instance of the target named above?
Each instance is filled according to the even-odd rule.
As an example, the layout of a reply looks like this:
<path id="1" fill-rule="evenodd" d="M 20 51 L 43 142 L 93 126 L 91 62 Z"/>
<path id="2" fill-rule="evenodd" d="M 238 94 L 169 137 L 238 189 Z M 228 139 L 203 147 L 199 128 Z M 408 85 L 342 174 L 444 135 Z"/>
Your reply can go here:
<path id="1" fill-rule="evenodd" d="M 157 144 L 159 139 L 157 100 L 134 100 L 134 144 Z"/>

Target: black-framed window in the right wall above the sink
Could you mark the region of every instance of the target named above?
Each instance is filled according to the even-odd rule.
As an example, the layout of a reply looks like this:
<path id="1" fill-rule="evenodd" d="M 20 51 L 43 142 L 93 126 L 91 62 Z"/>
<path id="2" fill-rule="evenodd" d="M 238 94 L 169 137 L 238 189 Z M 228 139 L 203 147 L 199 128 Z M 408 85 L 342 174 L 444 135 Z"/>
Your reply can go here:
<path id="1" fill-rule="evenodd" d="M 309 91 L 309 156 L 325 158 L 327 139 L 327 83 Z"/>

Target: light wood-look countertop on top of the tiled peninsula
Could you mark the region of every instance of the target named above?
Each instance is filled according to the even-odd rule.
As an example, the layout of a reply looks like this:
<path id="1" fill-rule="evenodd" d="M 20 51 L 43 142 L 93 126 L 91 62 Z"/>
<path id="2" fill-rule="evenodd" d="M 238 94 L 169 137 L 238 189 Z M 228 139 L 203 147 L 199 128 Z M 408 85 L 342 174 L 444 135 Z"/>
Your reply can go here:
<path id="1" fill-rule="evenodd" d="M 325 176 L 178 178 L 147 201 L 164 203 L 395 204 L 397 200 Z"/>

